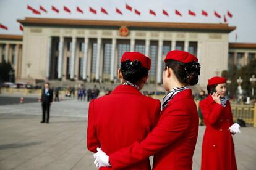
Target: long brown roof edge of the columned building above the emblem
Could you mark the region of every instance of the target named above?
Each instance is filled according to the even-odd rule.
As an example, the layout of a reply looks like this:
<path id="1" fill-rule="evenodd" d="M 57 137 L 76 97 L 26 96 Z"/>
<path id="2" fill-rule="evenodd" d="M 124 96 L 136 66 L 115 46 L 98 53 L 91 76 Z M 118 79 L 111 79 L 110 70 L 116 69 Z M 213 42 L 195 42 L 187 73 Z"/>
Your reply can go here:
<path id="1" fill-rule="evenodd" d="M 139 30 L 179 30 L 179 31 L 221 31 L 231 32 L 236 26 L 229 26 L 226 23 L 171 23 L 171 22 L 134 22 L 114 20 L 74 20 L 59 18 L 25 18 L 17 20 L 24 26 L 66 26 L 66 27 L 94 27 L 94 28 L 119 28 L 127 26 Z"/>

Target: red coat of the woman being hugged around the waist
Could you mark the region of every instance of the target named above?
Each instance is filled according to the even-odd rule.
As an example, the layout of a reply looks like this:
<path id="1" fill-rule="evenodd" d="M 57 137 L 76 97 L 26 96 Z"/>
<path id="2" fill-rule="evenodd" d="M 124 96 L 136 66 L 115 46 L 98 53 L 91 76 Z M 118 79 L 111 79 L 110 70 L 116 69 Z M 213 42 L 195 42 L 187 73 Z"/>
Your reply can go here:
<path id="1" fill-rule="evenodd" d="M 119 85 L 109 95 L 92 100 L 88 113 L 87 148 L 111 154 L 143 140 L 156 126 L 160 100 L 142 95 L 135 87 Z M 100 168 L 113 169 L 113 168 Z M 151 169 L 148 158 L 127 169 Z"/>

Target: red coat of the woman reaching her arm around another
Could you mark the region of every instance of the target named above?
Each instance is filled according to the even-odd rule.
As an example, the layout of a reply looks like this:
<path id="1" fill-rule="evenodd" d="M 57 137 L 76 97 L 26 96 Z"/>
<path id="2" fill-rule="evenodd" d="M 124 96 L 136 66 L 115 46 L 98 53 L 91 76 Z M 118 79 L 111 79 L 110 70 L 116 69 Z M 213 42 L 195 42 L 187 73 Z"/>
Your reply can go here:
<path id="1" fill-rule="evenodd" d="M 198 113 L 191 89 L 176 94 L 163 109 L 157 126 L 142 142 L 111 153 L 113 168 L 154 156 L 153 169 L 192 169 L 198 134 Z"/>

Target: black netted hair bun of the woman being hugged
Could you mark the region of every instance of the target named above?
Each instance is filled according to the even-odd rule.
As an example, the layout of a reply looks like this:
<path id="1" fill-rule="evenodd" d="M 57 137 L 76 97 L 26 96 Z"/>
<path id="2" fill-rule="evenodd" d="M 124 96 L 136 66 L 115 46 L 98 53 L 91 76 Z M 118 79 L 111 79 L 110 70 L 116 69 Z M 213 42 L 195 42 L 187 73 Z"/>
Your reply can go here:
<path id="1" fill-rule="evenodd" d="M 148 75 L 148 69 L 142 67 L 141 62 L 137 60 L 131 61 L 130 59 L 121 63 L 121 72 L 124 79 L 131 83 L 135 83 Z"/>

